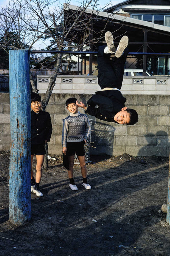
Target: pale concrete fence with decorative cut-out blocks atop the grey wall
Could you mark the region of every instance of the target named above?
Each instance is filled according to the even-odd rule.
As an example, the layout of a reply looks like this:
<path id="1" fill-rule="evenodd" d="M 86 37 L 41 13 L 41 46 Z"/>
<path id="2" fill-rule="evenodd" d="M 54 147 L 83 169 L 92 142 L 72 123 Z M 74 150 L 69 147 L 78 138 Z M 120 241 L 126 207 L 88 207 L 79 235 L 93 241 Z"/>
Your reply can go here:
<path id="1" fill-rule="evenodd" d="M 37 88 L 45 93 L 50 76 L 37 75 Z M 100 90 L 97 76 L 59 75 L 53 93 L 91 94 Z M 169 76 L 124 76 L 121 88 L 123 94 L 164 94 L 170 95 Z"/>

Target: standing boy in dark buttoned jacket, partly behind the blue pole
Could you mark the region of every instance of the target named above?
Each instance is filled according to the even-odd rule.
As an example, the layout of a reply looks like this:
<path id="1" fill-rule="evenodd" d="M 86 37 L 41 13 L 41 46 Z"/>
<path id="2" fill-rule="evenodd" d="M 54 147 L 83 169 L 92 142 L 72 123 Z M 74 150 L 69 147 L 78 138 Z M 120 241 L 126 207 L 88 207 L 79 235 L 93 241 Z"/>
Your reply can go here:
<path id="1" fill-rule="evenodd" d="M 48 112 L 41 110 L 41 96 L 37 93 L 31 93 L 31 192 L 37 197 L 43 194 L 39 190 L 42 177 L 42 165 L 44 161 L 45 144 L 50 141 L 52 133 L 51 118 Z M 33 176 L 32 162 L 36 154 L 36 180 Z"/>

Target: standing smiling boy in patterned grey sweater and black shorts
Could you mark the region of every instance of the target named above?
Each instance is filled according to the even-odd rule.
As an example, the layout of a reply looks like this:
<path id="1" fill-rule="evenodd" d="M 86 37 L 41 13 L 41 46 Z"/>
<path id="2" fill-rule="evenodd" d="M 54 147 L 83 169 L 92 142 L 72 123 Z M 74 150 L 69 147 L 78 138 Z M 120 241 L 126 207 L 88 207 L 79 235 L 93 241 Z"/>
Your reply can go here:
<path id="1" fill-rule="evenodd" d="M 74 155 L 78 156 L 81 166 L 81 172 L 83 177 L 83 186 L 86 189 L 91 189 L 91 186 L 87 183 L 87 169 L 85 161 L 84 144 L 89 137 L 91 126 L 87 115 L 81 114 L 78 111 L 76 105 L 76 98 L 69 98 L 66 100 L 66 109 L 70 112 L 70 115 L 64 119 L 63 132 L 62 132 L 62 146 L 64 155 L 68 155 L 69 170 L 68 176 L 70 180 L 70 189 L 77 190 L 77 186 L 73 179 L 73 165 Z"/>

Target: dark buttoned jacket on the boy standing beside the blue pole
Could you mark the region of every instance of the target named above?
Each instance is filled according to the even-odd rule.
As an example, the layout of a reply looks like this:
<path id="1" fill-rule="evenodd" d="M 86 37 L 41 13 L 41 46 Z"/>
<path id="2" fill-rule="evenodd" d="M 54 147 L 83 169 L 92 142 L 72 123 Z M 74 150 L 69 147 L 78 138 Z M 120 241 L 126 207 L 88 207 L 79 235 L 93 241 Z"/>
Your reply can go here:
<path id="1" fill-rule="evenodd" d="M 31 111 L 31 144 L 43 144 L 50 141 L 52 124 L 49 112 L 40 110 L 38 114 Z"/>

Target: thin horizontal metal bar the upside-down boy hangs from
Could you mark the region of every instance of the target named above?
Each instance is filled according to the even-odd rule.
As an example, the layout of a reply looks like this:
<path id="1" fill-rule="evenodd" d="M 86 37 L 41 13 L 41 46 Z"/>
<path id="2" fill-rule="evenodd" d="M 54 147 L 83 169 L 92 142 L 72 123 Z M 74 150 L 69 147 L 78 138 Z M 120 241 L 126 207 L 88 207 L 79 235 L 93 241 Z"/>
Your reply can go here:
<path id="1" fill-rule="evenodd" d="M 87 51 L 77 51 L 77 52 L 72 52 L 72 51 L 45 51 L 45 50 L 30 50 L 31 53 L 72 53 L 73 55 L 75 54 L 98 54 L 98 52 L 87 52 Z M 170 55 L 170 53 L 160 53 L 160 52 L 129 52 L 128 55 L 132 54 L 141 54 L 141 55 Z"/>

